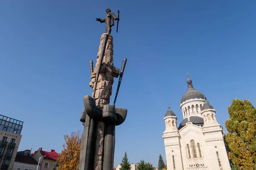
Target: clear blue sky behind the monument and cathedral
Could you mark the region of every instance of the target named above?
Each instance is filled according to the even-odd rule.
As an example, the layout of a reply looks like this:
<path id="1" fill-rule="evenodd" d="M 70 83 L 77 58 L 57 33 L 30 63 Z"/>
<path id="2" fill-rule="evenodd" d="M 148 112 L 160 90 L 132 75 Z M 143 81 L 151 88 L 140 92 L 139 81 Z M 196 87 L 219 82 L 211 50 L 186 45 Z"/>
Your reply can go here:
<path id="1" fill-rule="evenodd" d="M 116 102 L 128 116 L 116 127 L 115 166 L 125 151 L 131 163 L 165 160 L 163 116 L 170 103 L 181 122 L 187 71 L 222 126 L 233 98 L 256 105 L 256 1 L 1 0 L 0 114 L 24 122 L 19 150 L 61 152 L 63 135 L 83 130 L 89 60 L 96 63 L 105 31 L 95 18 L 105 8 L 120 10 L 114 65 L 128 59 Z"/>

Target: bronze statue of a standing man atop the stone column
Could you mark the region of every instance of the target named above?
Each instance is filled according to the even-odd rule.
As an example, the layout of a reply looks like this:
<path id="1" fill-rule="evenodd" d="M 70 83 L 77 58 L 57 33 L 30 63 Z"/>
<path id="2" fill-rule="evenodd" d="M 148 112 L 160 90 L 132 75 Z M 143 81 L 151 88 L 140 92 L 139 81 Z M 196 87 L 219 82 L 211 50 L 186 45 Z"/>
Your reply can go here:
<path id="1" fill-rule="evenodd" d="M 110 10 L 110 8 L 107 8 L 106 12 L 107 14 L 104 19 L 96 18 L 96 21 L 99 21 L 100 23 L 105 23 L 106 32 L 108 34 L 111 34 L 111 27 L 115 25 L 114 20 L 119 21 L 119 18 L 116 17 L 116 15 Z"/>

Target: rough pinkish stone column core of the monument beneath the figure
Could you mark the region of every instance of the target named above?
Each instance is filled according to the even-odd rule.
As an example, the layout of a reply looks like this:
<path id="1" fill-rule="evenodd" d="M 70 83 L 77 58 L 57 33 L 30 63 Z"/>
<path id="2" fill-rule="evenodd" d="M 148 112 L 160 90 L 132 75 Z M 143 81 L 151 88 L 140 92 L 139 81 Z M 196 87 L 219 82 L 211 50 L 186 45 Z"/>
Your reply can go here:
<path id="1" fill-rule="evenodd" d="M 91 74 L 90 87 L 94 89 L 96 74 L 99 68 L 99 59 L 102 52 L 102 45 L 104 40 L 104 33 L 100 39 L 99 51 L 97 54 L 96 66 Z M 113 66 L 113 37 L 108 34 L 108 41 L 105 49 L 105 55 L 103 57 L 101 71 L 95 92 L 96 105 L 99 108 L 103 108 L 104 105 L 108 105 L 110 102 L 110 96 L 112 94 L 112 85 L 114 82 L 113 77 L 119 76 L 119 69 Z M 98 122 L 96 125 L 96 150 L 93 170 L 102 170 L 102 154 L 104 145 L 104 131 L 105 123 Z"/>

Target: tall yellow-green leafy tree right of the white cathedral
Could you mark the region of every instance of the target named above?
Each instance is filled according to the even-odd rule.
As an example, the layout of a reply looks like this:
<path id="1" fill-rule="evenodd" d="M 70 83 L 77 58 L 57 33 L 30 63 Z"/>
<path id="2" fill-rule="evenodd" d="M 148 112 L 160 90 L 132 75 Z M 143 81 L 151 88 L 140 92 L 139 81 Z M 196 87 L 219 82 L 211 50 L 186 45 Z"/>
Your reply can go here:
<path id="1" fill-rule="evenodd" d="M 248 100 L 233 99 L 228 113 L 229 159 L 239 170 L 256 170 L 256 108 Z"/>

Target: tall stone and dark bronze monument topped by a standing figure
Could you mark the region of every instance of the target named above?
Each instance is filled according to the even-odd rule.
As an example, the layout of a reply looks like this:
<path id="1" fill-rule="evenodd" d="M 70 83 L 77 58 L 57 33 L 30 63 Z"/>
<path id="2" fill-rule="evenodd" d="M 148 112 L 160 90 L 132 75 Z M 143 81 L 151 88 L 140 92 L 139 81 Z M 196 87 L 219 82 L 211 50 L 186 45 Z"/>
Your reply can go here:
<path id="1" fill-rule="evenodd" d="M 127 115 L 127 109 L 115 107 L 127 59 L 123 59 L 121 71 L 113 66 L 113 37 L 110 32 L 113 24 L 111 20 L 116 19 L 116 16 L 109 8 L 106 11 L 108 14 L 105 19 L 99 19 L 106 22 L 107 32 L 101 36 L 94 69 L 93 61 L 90 60 L 89 85 L 93 88 L 93 94 L 92 97 L 84 96 L 84 109 L 80 117 L 84 131 L 79 170 L 113 170 L 115 127 L 121 125 Z M 113 105 L 109 105 L 113 77 L 119 77 L 119 82 Z"/>

